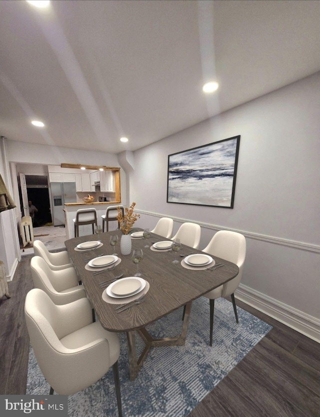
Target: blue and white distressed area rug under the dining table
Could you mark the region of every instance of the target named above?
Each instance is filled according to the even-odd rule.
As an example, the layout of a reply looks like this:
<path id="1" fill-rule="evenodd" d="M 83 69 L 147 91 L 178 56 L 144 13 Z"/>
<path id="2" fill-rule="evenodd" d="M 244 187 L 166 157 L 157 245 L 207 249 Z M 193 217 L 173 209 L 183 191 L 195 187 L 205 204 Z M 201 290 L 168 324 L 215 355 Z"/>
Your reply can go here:
<path id="1" fill-rule="evenodd" d="M 193 301 L 185 345 L 152 348 L 133 382 L 129 380 L 126 337 L 119 335 L 123 416 L 185 417 L 272 328 L 239 307 L 239 323 L 236 324 L 232 303 L 219 298 L 214 305 L 213 343 L 210 347 L 208 304 L 204 297 Z M 152 323 L 147 329 L 154 337 L 177 335 L 181 330 L 181 317 L 182 308 Z M 140 352 L 143 343 L 138 336 L 136 340 Z M 30 347 L 26 393 L 48 392 L 49 385 Z M 95 384 L 68 397 L 68 415 L 118 415 L 112 369 Z"/>

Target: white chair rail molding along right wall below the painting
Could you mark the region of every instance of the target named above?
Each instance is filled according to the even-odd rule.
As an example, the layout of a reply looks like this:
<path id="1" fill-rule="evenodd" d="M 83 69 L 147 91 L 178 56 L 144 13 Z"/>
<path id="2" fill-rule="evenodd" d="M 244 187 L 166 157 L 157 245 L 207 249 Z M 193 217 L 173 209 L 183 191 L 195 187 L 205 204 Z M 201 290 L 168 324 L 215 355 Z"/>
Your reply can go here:
<path id="1" fill-rule="evenodd" d="M 320 245 L 313 244 L 313 243 L 306 243 L 306 242 L 300 242 L 300 241 L 297 241 L 297 240 L 284 239 L 282 237 L 275 237 L 275 236 L 268 236 L 266 234 L 253 233 L 253 232 L 250 232 L 250 231 L 245 231 L 245 230 L 239 230 L 239 229 L 235 229 L 235 228 L 220 226 L 220 225 L 217 225 L 217 224 L 210 224 L 210 223 L 204 223 L 204 222 L 201 222 L 201 221 L 195 221 L 195 220 L 189 219 L 189 218 L 168 216 L 168 214 L 160 214 L 160 213 L 155 213 L 153 211 L 146 211 L 146 210 L 139 210 L 139 209 L 135 209 L 134 211 L 136 211 L 138 213 L 141 213 L 141 214 L 151 215 L 153 217 L 171 217 L 174 221 L 177 221 L 177 222 L 180 222 L 180 223 L 184 223 L 186 221 L 191 221 L 191 222 L 195 222 L 195 223 L 199 224 L 201 227 L 204 227 L 204 228 L 207 228 L 207 229 L 212 229 L 212 230 L 237 231 L 238 233 L 243 234 L 245 237 L 247 237 L 249 239 L 262 240 L 264 242 L 279 244 L 279 245 L 282 245 L 282 246 L 294 247 L 295 249 L 306 250 L 306 251 L 314 252 L 314 253 L 320 253 Z"/>

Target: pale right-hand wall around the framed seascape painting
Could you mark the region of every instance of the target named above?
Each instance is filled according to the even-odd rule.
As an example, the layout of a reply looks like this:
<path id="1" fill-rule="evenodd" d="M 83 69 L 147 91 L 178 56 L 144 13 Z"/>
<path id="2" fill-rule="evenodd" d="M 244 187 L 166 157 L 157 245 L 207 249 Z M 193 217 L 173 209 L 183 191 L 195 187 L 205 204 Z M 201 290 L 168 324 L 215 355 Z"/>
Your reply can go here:
<path id="1" fill-rule="evenodd" d="M 130 201 L 154 213 L 247 237 L 242 284 L 320 324 L 320 73 L 252 100 L 134 152 Z M 166 202 L 168 154 L 241 135 L 234 208 Z M 147 215 L 149 214 L 149 215 Z M 179 223 L 175 222 L 173 232 Z M 313 320 L 313 321 L 314 321 Z M 319 327 L 320 329 L 320 327 Z"/>

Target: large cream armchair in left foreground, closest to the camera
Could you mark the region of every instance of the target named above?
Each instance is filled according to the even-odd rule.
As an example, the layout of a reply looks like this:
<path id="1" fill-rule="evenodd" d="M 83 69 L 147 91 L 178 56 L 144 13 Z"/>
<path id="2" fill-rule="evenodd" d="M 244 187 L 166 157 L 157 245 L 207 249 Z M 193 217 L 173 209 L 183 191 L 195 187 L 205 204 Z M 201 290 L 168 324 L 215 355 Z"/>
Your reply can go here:
<path id="1" fill-rule="evenodd" d="M 92 385 L 113 367 L 118 413 L 121 397 L 117 333 L 92 322 L 91 304 L 80 298 L 55 305 L 41 289 L 25 297 L 24 315 L 35 358 L 50 384 L 50 394 L 72 395 Z"/>

